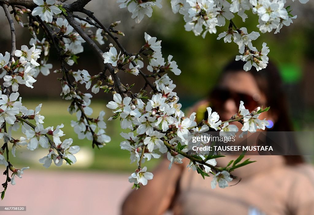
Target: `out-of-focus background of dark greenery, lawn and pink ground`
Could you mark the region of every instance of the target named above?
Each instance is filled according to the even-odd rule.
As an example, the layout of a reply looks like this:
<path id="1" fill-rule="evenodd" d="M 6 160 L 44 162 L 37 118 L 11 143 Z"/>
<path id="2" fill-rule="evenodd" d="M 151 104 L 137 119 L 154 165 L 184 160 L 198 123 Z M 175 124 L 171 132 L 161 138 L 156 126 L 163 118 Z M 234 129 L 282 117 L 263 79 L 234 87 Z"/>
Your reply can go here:
<path id="1" fill-rule="evenodd" d="M 71 1 L 68 1 L 71 2 Z M 73 1 L 72 1 L 73 2 Z M 235 59 L 238 48 L 235 43 L 224 43 L 223 39 L 217 40 L 219 33 L 228 27 L 217 28 L 217 34 L 207 34 L 206 38 L 196 37 L 192 32 L 184 30 L 184 21 L 181 14 L 173 14 L 170 2 L 163 1 L 163 8 L 154 8 L 152 18 L 145 16 L 140 24 L 131 19 L 131 13 L 126 8 L 119 9 L 116 1 L 93 0 L 87 9 L 95 12 L 105 26 L 114 21 L 122 23 L 116 27 L 125 33 L 119 36 L 119 41 L 128 52 L 137 52 L 144 45 L 144 32 L 162 40 L 162 53 L 166 58 L 173 55 L 181 69 L 180 76 L 168 74 L 177 85 L 175 91 L 180 97 L 183 109 L 192 106 L 195 102 L 207 97 L 208 92 L 214 87 L 219 73 L 227 62 Z M 283 27 L 279 34 L 266 33 L 253 43 L 258 49 L 263 42 L 267 42 L 270 53 L 269 58 L 280 68 L 282 78 L 289 98 L 289 110 L 296 130 L 312 131 L 314 127 L 314 2 L 300 4 L 292 3 L 292 14 L 298 15 L 289 27 Z M 243 23 L 236 17 L 234 22 L 239 27 L 246 27 L 248 32 L 258 31 L 258 17 L 250 16 Z M 79 14 L 78 15 L 82 15 Z M 82 17 L 85 17 L 84 15 Z M 26 21 L 26 16 L 24 17 Z M 10 51 L 11 37 L 7 19 L 0 9 L 1 34 L 0 53 Z M 15 22 L 17 49 L 21 45 L 29 45 L 31 35 L 28 30 L 21 28 Z M 41 36 L 39 36 L 41 38 Z M 106 50 L 110 39 L 101 46 Z M 59 63 L 51 48 L 50 59 L 53 69 L 49 76 L 39 75 L 37 82 L 30 89 L 20 86 L 19 93 L 23 104 L 29 109 L 42 103 L 41 114 L 45 116 L 44 126 L 57 126 L 63 123 L 66 136 L 73 138 L 73 145 L 81 147 L 76 154 L 77 163 L 72 166 L 63 165 L 56 167 L 53 164 L 49 169 L 44 168 L 38 159 L 47 154 L 46 149 L 29 151 L 26 148 L 17 149 L 16 158 L 10 157 L 11 163 L 17 168 L 30 166 L 24 171 L 23 179 L 17 179 L 16 185 L 9 185 L 4 201 L 0 206 L 26 206 L 24 214 L 53 214 L 53 208 L 62 211 L 71 211 L 75 214 L 84 214 L 91 211 L 103 210 L 105 214 L 118 214 L 124 196 L 131 190 L 127 177 L 135 170 L 136 165 L 129 164 L 129 155 L 120 149 L 123 140 L 119 135 L 122 131 L 119 121 L 107 122 L 106 133 L 111 136 L 111 142 L 101 150 L 92 149 L 91 142 L 79 140 L 70 123 L 75 116 L 70 115 L 67 107 L 68 101 L 60 97 L 61 84 L 57 81 L 60 74 L 53 71 L 59 69 Z M 73 70 L 86 69 L 91 75 L 102 71 L 103 62 L 84 44 L 84 53 L 79 54 L 78 65 Z M 145 68 L 143 71 L 146 71 Z M 259 72 L 263 72 L 259 71 Z M 136 89 L 143 87 L 144 82 L 140 77 L 124 74 L 120 71 L 122 83 L 135 83 Z M 135 88 L 135 87 L 134 87 Z M 84 88 L 82 88 L 84 91 Z M 93 94 L 91 107 L 93 116 L 98 116 L 101 110 L 106 112 L 106 119 L 111 116 L 111 110 L 106 108 L 110 101 L 110 94 Z M 145 166 L 152 170 L 158 160 L 145 162 Z M 5 181 L 0 176 L 0 181 Z M 14 212 L 15 213 L 15 212 Z M 21 212 L 22 213 L 22 212 Z M 93 213 L 92 213 L 93 214 Z"/>

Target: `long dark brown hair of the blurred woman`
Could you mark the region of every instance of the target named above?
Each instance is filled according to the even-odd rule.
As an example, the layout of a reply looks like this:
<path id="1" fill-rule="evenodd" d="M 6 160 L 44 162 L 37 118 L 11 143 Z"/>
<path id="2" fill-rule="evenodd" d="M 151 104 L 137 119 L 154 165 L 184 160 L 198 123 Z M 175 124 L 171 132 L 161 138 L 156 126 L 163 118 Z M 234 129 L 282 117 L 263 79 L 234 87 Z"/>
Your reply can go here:
<path id="1" fill-rule="evenodd" d="M 219 81 L 221 81 L 226 74 L 236 73 L 243 70 L 243 62 L 232 60 L 222 71 Z M 252 67 L 250 73 L 261 92 L 266 96 L 266 106 L 270 107 L 271 113 L 277 116 L 277 121 L 274 123 L 272 131 L 293 131 L 293 126 L 290 121 L 288 104 L 284 92 L 283 82 L 281 80 L 278 68 L 271 62 L 267 67 L 261 71 L 256 71 Z M 286 163 L 289 165 L 304 162 L 303 157 L 300 155 L 297 144 L 293 137 L 290 137 L 290 146 L 297 155 L 284 155 Z"/>

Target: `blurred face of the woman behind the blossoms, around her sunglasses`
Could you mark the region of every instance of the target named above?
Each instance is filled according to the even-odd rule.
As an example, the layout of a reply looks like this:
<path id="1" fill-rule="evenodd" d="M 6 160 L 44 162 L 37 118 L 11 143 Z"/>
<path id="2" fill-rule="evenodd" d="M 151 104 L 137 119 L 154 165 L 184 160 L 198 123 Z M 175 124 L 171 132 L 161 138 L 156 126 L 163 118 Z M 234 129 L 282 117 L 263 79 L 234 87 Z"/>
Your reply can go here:
<path id="1" fill-rule="evenodd" d="M 231 116 L 238 113 L 240 103 L 238 103 L 239 101 L 235 101 L 239 99 L 235 99 L 234 97 L 245 97 L 247 101 L 251 101 L 247 103 L 244 101 L 244 106 L 246 109 L 248 109 L 249 106 L 253 108 L 249 109 L 250 112 L 252 112 L 258 106 L 266 107 L 266 97 L 263 92 L 260 91 L 254 77 L 249 72 L 239 71 L 226 73 L 222 81 L 218 84 L 218 87 L 230 91 L 230 94 L 232 95 L 229 98 L 225 97 L 225 100 L 221 101 L 220 108 L 214 110 L 219 113 L 220 119 L 222 121 L 229 120 Z M 251 105 L 248 105 L 249 103 Z M 256 107 L 253 107 L 255 105 Z M 259 116 L 259 118 L 268 118 L 267 115 L 268 113 L 264 112 Z M 237 125 L 239 130 L 241 128 L 241 124 L 238 122 L 230 124 Z"/>

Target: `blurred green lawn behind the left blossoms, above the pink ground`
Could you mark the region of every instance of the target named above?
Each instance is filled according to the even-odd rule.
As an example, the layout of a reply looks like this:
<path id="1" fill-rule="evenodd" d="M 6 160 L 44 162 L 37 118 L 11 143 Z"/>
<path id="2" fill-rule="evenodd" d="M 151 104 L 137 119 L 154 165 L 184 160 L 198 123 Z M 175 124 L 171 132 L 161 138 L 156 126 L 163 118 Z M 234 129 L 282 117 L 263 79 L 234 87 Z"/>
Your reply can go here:
<path id="1" fill-rule="evenodd" d="M 91 117 L 97 117 L 101 110 L 106 112 L 105 122 L 107 123 L 106 134 L 111 137 L 111 142 L 107 143 L 102 149 L 93 149 L 92 142 L 83 139 L 80 140 L 77 137 L 77 134 L 74 132 L 71 127 L 71 120 L 76 120 L 76 115 L 70 115 L 67 111 L 69 102 L 68 101 L 23 101 L 23 105 L 28 109 L 35 110 L 35 107 L 42 103 L 41 107 L 41 115 L 45 116 L 44 119 L 44 128 L 49 126 L 64 124 L 64 128 L 62 128 L 65 136 L 61 137 L 61 140 L 72 138 L 73 144 L 81 147 L 81 151 L 78 152 L 77 156 L 78 162 L 80 162 L 79 158 L 83 157 L 84 160 L 87 160 L 87 165 L 74 164 L 72 166 L 65 165 L 65 163 L 61 167 L 55 167 L 52 163 L 49 169 L 53 170 L 100 170 L 100 171 L 111 171 L 111 172 L 133 172 L 136 169 L 136 163 L 130 164 L 130 156 L 129 152 L 126 150 L 122 150 L 120 148 L 120 142 L 123 141 L 123 138 L 120 136 L 120 133 L 129 132 L 128 130 L 123 130 L 120 128 L 120 122 L 118 120 L 107 121 L 107 119 L 111 116 L 111 110 L 106 107 L 107 102 L 93 101 L 90 107 L 93 108 L 93 114 Z M 15 134 L 14 137 L 19 138 L 20 135 Z M 11 148 L 11 147 L 10 147 Z M 10 149 L 9 148 L 9 149 Z M 10 149 L 11 150 L 11 149 Z M 36 152 L 37 151 L 37 152 Z M 85 153 L 84 153 L 85 152 Z M 88 153 L 87 153 L 88 152 Z M 24 153 L 24 155 L 23 155 Z M 16 150 L 16 157 L 14 158 L 10 152 L 10 161 L 17 168 L 30 166 L 35 169 L 46 169 L 39 162 L 38 159 L 46 156 L 48 154 L 47 149 L 42 149 L 39 146 L 35 151 L 29 151 L 26 147 L 22 147 Z M 21 156 L 20 156 L 21 155 Z M 84 162 L 84 161 L 83 161 Z M 146 161 L 143 165 L 148 168 L 154 167 L 159 160 L 150 160 Z M 77 165 L 77 166 L 76 166 Z"/>

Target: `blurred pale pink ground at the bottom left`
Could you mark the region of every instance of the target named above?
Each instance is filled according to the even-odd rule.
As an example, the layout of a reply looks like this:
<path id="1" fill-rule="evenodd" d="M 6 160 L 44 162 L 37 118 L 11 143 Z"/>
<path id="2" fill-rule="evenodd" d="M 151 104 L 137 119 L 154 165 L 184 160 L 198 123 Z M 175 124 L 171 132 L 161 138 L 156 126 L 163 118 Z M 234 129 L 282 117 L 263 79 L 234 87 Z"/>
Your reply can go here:
<path id="1" fill-rule="evenodd" d="M 105 172 L 24 171 L 9 184 L 0 206 L 26 206 L 26 211 L 0 214 L 120 214 L 132 185 L 126 174 Z M 5 181 L 4 176 L 0 177 Z"/>

